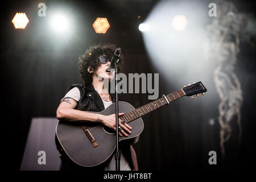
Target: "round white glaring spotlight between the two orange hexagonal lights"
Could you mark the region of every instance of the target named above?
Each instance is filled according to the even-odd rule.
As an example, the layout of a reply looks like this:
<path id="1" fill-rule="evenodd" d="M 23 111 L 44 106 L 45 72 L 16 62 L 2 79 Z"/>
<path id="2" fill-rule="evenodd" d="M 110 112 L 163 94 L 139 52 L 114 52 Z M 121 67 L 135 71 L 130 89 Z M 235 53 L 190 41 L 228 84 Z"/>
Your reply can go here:
<path id="1" fill-rule="evenodd" d="M 69 28 L 68 17 L 64 14 L 57 14 L 52 16 L 51 26 L 56 32 L 64 32 Z"/>

